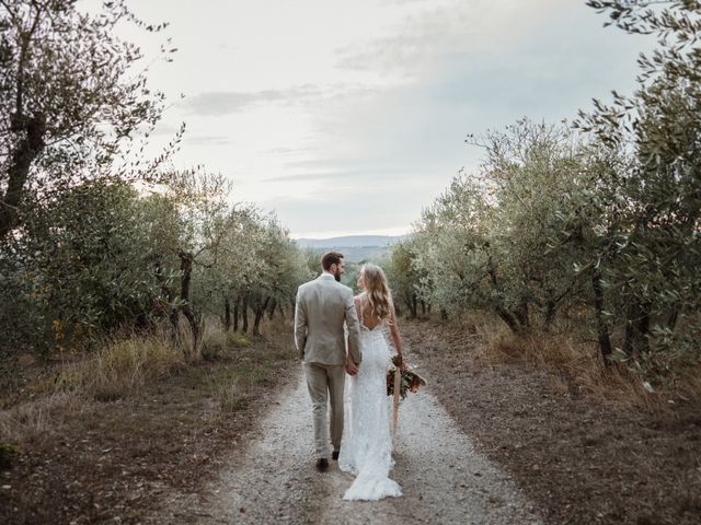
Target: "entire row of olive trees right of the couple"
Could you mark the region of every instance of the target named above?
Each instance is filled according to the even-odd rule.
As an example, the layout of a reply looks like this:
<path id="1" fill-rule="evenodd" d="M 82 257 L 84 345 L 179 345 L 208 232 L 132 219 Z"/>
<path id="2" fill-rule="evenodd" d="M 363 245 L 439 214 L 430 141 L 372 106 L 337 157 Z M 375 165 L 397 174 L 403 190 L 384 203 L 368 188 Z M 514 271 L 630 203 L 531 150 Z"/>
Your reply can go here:
<path id="1" fill-rule="evenodd" d="M 605 363 L 669 377 L 701 359 L 701 4 L 588 1 L 657 47 L 637 89 L 573 125 L 470 136 L 459 173 L 390 257 L 395 293 L 444 316 L 481 308 L 515 334 L 566 324 Z"/>

